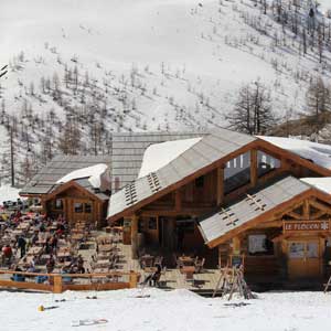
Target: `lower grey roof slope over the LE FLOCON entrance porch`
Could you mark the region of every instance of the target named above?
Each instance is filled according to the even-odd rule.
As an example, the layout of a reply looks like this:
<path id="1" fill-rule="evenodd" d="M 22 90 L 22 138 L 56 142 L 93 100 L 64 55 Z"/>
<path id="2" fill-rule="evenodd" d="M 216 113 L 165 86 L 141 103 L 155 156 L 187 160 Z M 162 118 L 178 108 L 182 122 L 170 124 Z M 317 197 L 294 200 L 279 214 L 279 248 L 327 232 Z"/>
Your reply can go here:
<path id="1" fill-rule="evenodd" d="M 241 201 L 201 221 L 201 234 L 206 244 L 212 243 L 228 232 L 266 214 L 281 203 L 310 190 L 309 184 L 293 177 L 286 177 L 266 188 L 255 190 Z"/>

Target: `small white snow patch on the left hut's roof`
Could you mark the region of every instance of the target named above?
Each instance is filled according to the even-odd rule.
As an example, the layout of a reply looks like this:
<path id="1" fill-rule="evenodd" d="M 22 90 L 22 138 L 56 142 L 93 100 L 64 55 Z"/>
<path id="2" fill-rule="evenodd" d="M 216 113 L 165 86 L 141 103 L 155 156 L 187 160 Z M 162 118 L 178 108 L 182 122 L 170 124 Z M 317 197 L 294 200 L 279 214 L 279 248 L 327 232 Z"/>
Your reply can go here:
<path id="1" fill-rule="evenodd" d="M 107 172 L 107 164 L 99 163 L 96 166 L 78 169 L 75 171 L 70 172 L 65 177 L 61 178 L 56 184 L 63 184 L 66 182 L 70 182 L 72 180 L 82 179 L 82 178 L 88 178 L 89 183 L 95 189 L 100 189 L 103 184 L 103 175 Z"/>

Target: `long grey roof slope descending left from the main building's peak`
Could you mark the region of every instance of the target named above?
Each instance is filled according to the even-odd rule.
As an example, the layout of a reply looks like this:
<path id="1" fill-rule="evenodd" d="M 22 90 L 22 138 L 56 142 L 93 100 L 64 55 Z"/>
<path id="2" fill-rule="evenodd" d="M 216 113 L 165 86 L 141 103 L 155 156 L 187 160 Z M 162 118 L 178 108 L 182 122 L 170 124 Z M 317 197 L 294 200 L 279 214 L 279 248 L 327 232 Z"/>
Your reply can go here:
<path id="1" fill-rule="evenodd" d="M 227 129 L 215 129 L 177 159 L 143 178 L 135 180 L 110 196 L 108 217 L 147 203 L 157 192 L 171 186 L 192 173 L 256 141 L 257 138 Z"/>

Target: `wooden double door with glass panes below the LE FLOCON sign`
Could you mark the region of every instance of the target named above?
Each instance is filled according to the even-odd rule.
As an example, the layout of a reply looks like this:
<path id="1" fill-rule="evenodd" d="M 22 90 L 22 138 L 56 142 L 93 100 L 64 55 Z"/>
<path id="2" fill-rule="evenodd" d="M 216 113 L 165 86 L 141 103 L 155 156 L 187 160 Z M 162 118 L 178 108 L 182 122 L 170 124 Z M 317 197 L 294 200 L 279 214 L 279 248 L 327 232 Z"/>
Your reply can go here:
<path id="1" fill-rule="evenodd" d="M 290 279 L 321 276 L 321 247 L 318 238 L 288 242 L 288 276 Z"/>

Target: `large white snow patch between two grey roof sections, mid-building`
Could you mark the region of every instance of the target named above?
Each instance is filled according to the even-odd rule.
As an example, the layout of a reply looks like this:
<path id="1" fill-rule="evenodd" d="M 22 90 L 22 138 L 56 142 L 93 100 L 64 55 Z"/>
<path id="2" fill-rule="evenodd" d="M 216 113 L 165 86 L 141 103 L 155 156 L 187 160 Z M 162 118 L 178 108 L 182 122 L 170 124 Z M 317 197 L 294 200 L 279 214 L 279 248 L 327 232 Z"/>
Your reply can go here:
<path id="1" fill-rule="evenodd" d="M 147 148 L 143 153 L 143 159 L 138 178 L 142 178 L 150 172 L 154 172 L 167 166 L 185 150 L 199 142 L 202 138 L 191 138 L 183 140 L 166 141 L 153 143 Z"/>

